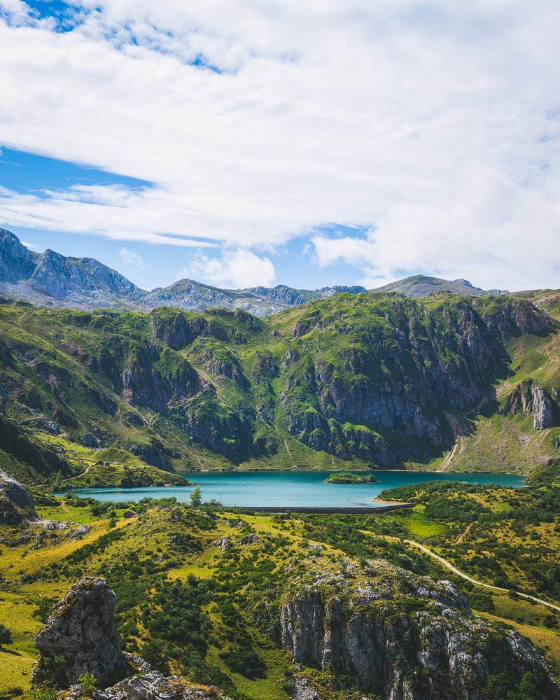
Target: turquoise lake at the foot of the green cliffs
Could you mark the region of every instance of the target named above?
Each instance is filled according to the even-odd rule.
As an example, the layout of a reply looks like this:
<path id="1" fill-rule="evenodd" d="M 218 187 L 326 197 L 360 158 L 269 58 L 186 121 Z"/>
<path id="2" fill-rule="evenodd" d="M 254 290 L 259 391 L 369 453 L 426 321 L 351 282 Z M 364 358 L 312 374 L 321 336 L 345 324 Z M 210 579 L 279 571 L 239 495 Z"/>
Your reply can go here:
<path id="1" fill-rule="evenodd" d="M 378 507 L 374 502 L 383 489 L 426 481 L 463 481 L 474 484 L 524 486 L 523 477 L 511 474 L 449 474 L 437 472 L 376 471 L 375 484 L 325 484 L 332 472 L 189 472 L 186 478 L 200 484 L 202 500 L 216 498 L 223 505 L 241 507 Z M 360 472 L 356 472 L 360 473 Z M 142 489 L 76 489 L 80 496 L 97 500 L 134 500 L 149 496 L 175 496 L 188 501 L 194 486 Z"/>

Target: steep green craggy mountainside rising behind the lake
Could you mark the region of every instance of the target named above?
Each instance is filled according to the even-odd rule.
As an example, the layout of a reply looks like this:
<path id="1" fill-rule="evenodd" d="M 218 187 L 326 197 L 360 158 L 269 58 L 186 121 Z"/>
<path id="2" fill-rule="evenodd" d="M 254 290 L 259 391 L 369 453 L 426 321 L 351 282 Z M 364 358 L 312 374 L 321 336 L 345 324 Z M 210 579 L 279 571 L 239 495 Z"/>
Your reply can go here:
<path id="1" fill-rule="evenodd" d="M 447 292 L 343 293 L 264 319 L 3 300 L 2 459 L 74 486 L 197 468 L 528 472 L 558 454 L 557 328 L 524 299 Z"/>

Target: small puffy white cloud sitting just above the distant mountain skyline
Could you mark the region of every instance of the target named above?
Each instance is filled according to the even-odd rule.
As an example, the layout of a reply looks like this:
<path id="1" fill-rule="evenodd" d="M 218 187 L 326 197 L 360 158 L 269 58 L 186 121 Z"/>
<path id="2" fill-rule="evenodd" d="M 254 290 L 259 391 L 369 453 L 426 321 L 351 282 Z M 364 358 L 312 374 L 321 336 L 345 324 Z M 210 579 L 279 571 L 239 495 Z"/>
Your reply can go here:
<path id="1" fill-rule="evenodd" d="M 226 250 L 221 258 L 197 255 L 177 273 L 179 278 L 196 279 L 216 287 L 242 289 L 246 287 L 270 287 L 274 283 L 274 265 L 268 258 L 242 248 Z"/>

